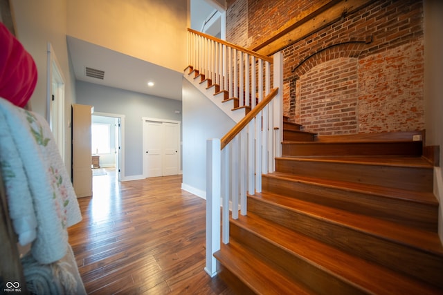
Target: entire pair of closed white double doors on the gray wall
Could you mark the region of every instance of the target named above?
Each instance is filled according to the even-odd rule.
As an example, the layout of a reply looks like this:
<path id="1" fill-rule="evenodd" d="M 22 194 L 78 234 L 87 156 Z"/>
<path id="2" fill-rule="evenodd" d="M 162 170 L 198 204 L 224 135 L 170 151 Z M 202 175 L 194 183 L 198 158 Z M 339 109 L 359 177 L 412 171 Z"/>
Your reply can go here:
<path id="1" fill-rule="evenodd" d="M 180 121 L 143 117 L 143 177 L 180 171 Z"/>

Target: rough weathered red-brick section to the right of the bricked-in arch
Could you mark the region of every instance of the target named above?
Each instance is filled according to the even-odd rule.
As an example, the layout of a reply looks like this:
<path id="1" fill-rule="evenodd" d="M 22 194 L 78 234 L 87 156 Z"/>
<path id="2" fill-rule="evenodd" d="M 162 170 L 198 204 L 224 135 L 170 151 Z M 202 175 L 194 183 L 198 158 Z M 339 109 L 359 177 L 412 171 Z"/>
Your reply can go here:
<path id="1" fill-rule="evenodd" d="M 423 41 L 359 60 L 359 132 L 424 129 Z"/>

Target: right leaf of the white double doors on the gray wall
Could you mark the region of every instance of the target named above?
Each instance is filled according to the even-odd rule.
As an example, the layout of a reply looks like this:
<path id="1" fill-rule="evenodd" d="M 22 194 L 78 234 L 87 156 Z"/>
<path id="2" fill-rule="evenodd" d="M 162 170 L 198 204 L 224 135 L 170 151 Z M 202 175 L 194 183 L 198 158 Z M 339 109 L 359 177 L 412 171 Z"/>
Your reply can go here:
<path id="1" fill-rule="evenodd" d="M 179 174 L 179 124 L 163 122 L 163 176 Z"/>

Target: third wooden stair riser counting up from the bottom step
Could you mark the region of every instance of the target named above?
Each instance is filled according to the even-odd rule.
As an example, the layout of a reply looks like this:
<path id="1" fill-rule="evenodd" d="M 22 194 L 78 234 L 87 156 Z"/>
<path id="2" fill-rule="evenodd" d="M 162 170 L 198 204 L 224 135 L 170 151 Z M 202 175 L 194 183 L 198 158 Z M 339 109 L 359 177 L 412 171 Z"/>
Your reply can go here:
<path id="1" fill-rule="evenodd" d="M 341 251 L 379 263 L 396 272 L 414 276 L 437 287 L 443 287 L 441 280 L 443 258 L 424 252 L 422 249 L 408 247 L 395 240 L 386 240 L 322 217 L 263 202 L 251 196 L 248 196 L 248 211 L 316 238 Z"/>

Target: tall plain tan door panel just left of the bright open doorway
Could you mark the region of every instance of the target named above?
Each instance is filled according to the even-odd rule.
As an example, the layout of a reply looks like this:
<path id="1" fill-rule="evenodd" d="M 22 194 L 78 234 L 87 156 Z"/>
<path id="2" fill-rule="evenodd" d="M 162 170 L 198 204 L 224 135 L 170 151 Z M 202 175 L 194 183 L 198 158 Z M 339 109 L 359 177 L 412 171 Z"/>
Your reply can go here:
<path id="1" fill-rule="evenodd" d="M 72 106 L 72 178 L 77 197 L 92 196 L 92 106 Z"/>

